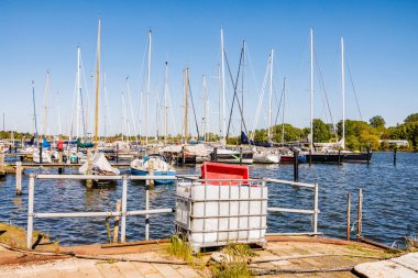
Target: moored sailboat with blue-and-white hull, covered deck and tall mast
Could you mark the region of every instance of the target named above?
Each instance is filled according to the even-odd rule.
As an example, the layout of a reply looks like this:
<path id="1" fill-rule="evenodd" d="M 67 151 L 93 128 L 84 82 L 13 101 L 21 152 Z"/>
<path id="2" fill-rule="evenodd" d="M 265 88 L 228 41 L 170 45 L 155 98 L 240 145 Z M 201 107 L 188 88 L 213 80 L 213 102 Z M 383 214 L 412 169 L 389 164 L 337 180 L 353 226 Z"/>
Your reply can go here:
<path id="1" fill-rule="evenodd" d="M 146 124 L 148 120 L 148 99 L 150 99 L 150 73 L 151 73 L 151 42 L 152 33 L 148 33 L 148 65 L 147 65 L 147 92 L 146 92 Z M 167 71 L 166 71 L 167 73 Z M 147 146 L 147 129 L 145 130 L 145 145 Z M 175 176 L 176 171 L 160 154 L 146 155 L 143 158 L 135 158 L 131 162 L 131 175 L 147 176 L 153 174 L 154 176 Z M 157 179 L 156 184 L 168 184 L 172 180 Z"/>

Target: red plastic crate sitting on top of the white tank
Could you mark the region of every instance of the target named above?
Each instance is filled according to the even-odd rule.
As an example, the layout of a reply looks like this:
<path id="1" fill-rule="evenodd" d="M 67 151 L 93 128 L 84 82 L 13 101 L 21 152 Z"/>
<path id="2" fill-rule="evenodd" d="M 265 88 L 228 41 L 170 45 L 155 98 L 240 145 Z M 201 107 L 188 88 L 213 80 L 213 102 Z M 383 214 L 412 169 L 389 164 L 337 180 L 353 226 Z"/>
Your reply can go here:
<path id="1" fill-rule="evenodd" d="M 249 179 L 249 167 L 230 165 L 222 163 L 204 163 L 201 166 L 202 179 Z M 229 186 L 240 185 L 240 181 L 207 181 L 208 185 Z M 241 181 L 241 185 L 248 185 L 248 181 Z"/>

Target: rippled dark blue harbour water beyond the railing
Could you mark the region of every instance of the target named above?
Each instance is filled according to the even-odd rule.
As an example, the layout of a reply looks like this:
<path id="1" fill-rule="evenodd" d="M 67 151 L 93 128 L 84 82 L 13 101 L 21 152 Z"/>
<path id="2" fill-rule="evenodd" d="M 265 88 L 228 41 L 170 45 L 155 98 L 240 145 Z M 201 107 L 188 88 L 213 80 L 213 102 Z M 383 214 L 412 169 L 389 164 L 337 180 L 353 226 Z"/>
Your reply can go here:
<path id="1" fill-rule="evenodd" d="M 124 169 L 128 170 L 128 169 Z M 123 171 L 123 170 L 122 170 Z M 292 165 L 253 165 L 252 177 L 293 179 Z M 14 175 L 0 180 L 0 222 L 26 226 L 28 174 L 56 174 L 57 169 L 25 170 L 23 194 L 15 196 Z M 66 170 L 66 174 L 72 170 Z M 178 168 L 178 174 L 199 173 L 198 168 Z M 359 189 L 363 189 L 363 234 L 375 241 L 392 244 L 404 242 L 405 235 L 418 233 L 418 154 L 398 153 L 393 165 L 392 153 L 374 153 L 372 164 L 300 165 L 299 180 L 319 184 L 319 226 L 327 236 L 344 237 L 346 194 L 352 197 L 351 223 L 356 218 Z M 150 207 L 173 208 L 175 185 L 156 186 L 150 192 Z M 87 190 L 80 181 L 36 180 L 35 212 L 113 211 L 121 199 L 122 184 Z M 312 208 L 312 191 L 292 186 L 268 184 L 270 207 Z M 144 184 L 128 187 L 128 210 L 145 208 Z M 169 236 L 174 231 L 174 215 L 151 216 L 151 238 Z M 127 220 L 128 241 L 144 238 L 144 218 Z M 312 231 L 309 215 L 276 213 L 268 215 L 268 232 Z M 106 243 L 105 218 L 35 219 L 34 229 L 51 235 L 64 245 Z M 354 233 L 353 233 L 354 235 Z"/>

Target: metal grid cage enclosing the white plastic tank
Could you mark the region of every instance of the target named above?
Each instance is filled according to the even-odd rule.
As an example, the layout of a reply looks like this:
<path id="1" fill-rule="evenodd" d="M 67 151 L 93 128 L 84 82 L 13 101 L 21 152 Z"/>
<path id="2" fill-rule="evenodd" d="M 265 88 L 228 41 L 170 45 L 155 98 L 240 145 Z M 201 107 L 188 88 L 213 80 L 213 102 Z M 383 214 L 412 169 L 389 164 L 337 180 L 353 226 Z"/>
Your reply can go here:
<path id="1" fill-rule="evenodd" d="M 185 181 L 187 180 L 187 181 Z M 184 234 L 188 237 L 190 241 L 190 236 L 193 234 L 200 234 L 202 236 L 202 241 L 200 242 L 193 242 L 191 247 L 195 253 L 198 253 L 200 248 L 204 247 L 213 247 L 213 246 L 222 246 L 231 242 L 235 243 L 256 243 L 260 245 L 265 245 L 265 237 L 263 233 L 266 233 L 267 230 L 267 212 L 263 213 L 263 205 L 265 205 L 265 210 L 267 210 L 267 201 L 268 198 L 264 198 L 264 196 L 268 194 L 268 190 L 266 187 L 266 180 L 265 179 L 189 179 L 185 178 L 183 179 L 184 184 L 189 184 L 190 189 L 194 186 L 201 186 L 204 187 L 204 199 L 195 199 L 193 196 L 185 197 L 183 194 L 178 193 L 178 184 L 177 184 L 177 190 L 176 190 L 176 201 L 180 201 L 185 204 L 185 210 L 187 212 L 187 219 L 186 222 L 175 220 L 176 225 L 176 232 L 179 232 L 180 234 Z M 221 193 L 222 190 L 218 190 L 218 198 L 210 198 L 208 199 L 208 186 L 215 186 L 220 188 L 228 187 L 228 191 Z M 232 198 L 232 188 L 238 188 L 238 198 Z M 242 196 L 242 189 L 248 188 L 248 198 L 241 198 Z M 260 198 L 251 198 L 251 194 L 255 189 L 260 190 Z M 237 192 L 235 192 L 237 193 Z M 260 203 L 260 213 L 251 213 L 250 208 L 252 207 L 252 203 Z M 194 211 L 194 205 L 196 203 L 204 203 L 202 205 L 202 214 L 197 215 L 196 211 Z M 218 214 L 217 215 L 207 215 L 208 210 L 208 203 L 212 203 L 216 205 L 218 204 Z M 228 205 L 228 212 L 221 211 L 221 203 L 223 205 Z M 238 214 L 231 214 L 231 205 L 234 203 L 234 205 L 238 205 Z M 241 213 L 241 205 L 246 204 L 248 211 L 246 213 Z M 254 227 L 251 226 L 250 219 L 254 220 L 254 218 L 260 219 L 260 223 Z M 221 220 L 228 219 L 228 227 L 220 227 Z M 231 227 L 231 220 L 235 219 L 238 222 L 238 227 L 233 229 Z M 246 219 L 246 226 L 241 226 L 242 219 Z M 193 221 L 201 220 L 202 221 L 202 229 L 194 229 L 193 227 Z M 216 220 L 217 229 L 207 229 L 207 220 Z M 264 224 L 263 224 L 264 222 Z M 251 231 L 258 231 L 258 236 L 256 238 L 250 238 L 250 232 Z M 216 233 L 216 240 L 207 240 L 207 234 L 213 234 Z M 234 238 L 231 238 L 231 233 L 235 234 Z M 246 236 L 240 236 L 240 233 L 246 233 Z M 220 238 L 221 234 L 227 236 L 227 238 Z"/>

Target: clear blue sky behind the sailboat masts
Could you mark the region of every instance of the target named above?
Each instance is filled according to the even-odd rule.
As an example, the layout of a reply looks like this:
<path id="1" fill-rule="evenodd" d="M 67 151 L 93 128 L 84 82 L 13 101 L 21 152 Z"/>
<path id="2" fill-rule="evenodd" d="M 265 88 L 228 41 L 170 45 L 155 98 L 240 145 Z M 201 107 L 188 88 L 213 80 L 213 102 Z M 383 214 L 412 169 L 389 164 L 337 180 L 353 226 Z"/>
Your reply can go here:
<path id="1" fill-rule="evenodd" d="M 218 131 L 217 70 L 219 30 L 224 29 L 226 51 L 235 74 L 240 47 L 246 40 L 245 121 L 253 126 L 267 57 L 275 51 L 274 84 L 279 93 L 287 80 L 286 122 L 309 125 L 309 27 L 326 85 L 332 115 L 341 114 L 340 37 L 360 101 L 363 120 L 376 114 L 388 125 L 418 112 L 418 1 L 0 1 L 0 112 L 6 129 L 31 131 L 31 81 L 35 81 L 38 125 L 43 123 L 46 70 L 51 71 L 50 132 L 58 129 L 58 107 L 68 133 L 77 65 L 81 47 L 89 99 L 95 68 L 97 21 L 102 21 L 101 70 L 106 71 L 109 114 L 107 134 L 122 131 L 121 92 L 125 77 L 135 116 L 144 87 L 144 51 L 153 31 L 150 134 L 155 134 L 155 96 L 161 96 L 164 63 L 169 65 L 170 133 L 182 127 L 183 69 L 201 111 L 201 76 L 208 78 L 210 130 Z M 316 66 L 317 67 L 317 66 Z M 315 78 L 315 116 L 327 120 L 319 74 Z M 227 79 L 229 80 L 229 79 Z M 231 85 L 228 84 L 228 102 Z M 258 90 L 256 90 L 258 88 Z M 59 102 L 57 101 L 59 91 Z M 266 97 L 264 98 L 266 100 Z M 91 103 L 90 103 L 91 105 Z M 90 108 L 91 109 L 91 108 Z M 277 104 L 274 103 L 276 111 Z M 267 103 L 258 127 L 266 126 Z M 103 111 L 103 109 L 101 110 Z M 190 110 L 191 112 L 191 110 Z M 275 113 L 275 112 L 274 112 Z M 128 110 L 130 116 L 130 111 Z M 346 75 L 346 116 L 360 119 Z M 91 116 L 90 116 L 91 118 Z M 101 115 L 102 123 L 103 114 Z M 239 124 L 234 116 L 234 133 Z M 132 121 L 132 120 L 130 120 Z M 195 123 L 190 122 L 194 131 Z M 92 131 L 90 123 L 90 132 Z M 139 130 L 139 127 L 136 127 Z M 144 127 L 142 127 L 143 130 Z M 132 130 L 132 127 L 131 127 Z M 101 133 L 103 127 L 101 126 Z M 160 132 L 161 127 L 160 127 Z M 131 132 L 132 133 L 132 132 Z"/>

